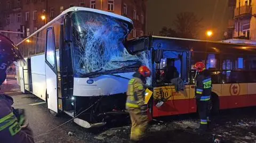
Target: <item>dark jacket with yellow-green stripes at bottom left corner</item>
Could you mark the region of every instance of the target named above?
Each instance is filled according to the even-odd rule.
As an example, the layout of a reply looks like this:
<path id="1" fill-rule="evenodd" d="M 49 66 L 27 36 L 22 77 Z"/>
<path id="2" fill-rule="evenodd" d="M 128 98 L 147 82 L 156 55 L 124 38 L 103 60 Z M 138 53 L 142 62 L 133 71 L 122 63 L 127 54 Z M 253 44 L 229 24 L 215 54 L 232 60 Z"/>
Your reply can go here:
<path id="1" fill-rule="evenodd" d="M 0 94 L 0 142 L 31 143 L 34 142 L 31 130 L 21 128 L 13 113 L 13 99 Z"/>

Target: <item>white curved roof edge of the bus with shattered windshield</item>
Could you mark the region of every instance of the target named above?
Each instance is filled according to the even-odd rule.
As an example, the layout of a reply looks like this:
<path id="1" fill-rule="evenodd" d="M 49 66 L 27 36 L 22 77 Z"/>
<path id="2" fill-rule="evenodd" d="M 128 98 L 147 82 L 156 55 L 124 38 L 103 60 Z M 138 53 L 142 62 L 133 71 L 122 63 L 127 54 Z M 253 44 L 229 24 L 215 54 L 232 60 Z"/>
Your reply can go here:
<path id="1" fill-rule="evenodd" d="M 74 6 L 74 7 L 70 7 L 69 9 L 63 11 L 61 14 L 56 16 L 53 20 L 51 20 L 48 23 L 46 23 L 43 27 L 39 28 L 34 33 L 32 33 L 30 36 L 28 36 L 27 38 L 25 38 L 22 41 L 20 41 L 20 43 L 18 43 L 17 45 L 23 43 L 23 41 L 25 41 L 25 40 L 29 39 L 30 37 L 34 36 L 37 32 L 39 32 L 39 31 L 49 27 L 53 22 L 55 22 L 56 20 L 60 19 L 61 16 L 65 15 L 68 12 L 73 12 L 73 11 L 89 11 L 89 12 L 105 14 L 105 15 L 112 16 L 114 18 L 117 18 L 117 19 L 120 19 L 120 20 L 124 20 L 126 22 L 130 22 L 131 24 L 133 24 L 131 19 L 126 18 L 125 16 L 122 16 L 122 15 L 118 15 L 118 14 L 115 14 L 115 13 L 112 13 L 112 12 L 101 11 L 101 10 L 97 10 L 97 9 L 90 9 L 90 8 L 86 8 L 86 7 Z"/>

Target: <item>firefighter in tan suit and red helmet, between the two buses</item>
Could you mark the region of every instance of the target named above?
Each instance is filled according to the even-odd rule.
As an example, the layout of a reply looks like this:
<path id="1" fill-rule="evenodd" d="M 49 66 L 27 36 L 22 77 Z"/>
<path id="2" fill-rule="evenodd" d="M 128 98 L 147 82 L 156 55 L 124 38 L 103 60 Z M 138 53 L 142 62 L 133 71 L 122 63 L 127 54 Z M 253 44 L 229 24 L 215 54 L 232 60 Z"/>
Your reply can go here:
<path id="1" fill-rule="evenodd" d="M 145 104 L 145 82 L 150 77 L 147 66 L 140 66 L 129 81 L 126 92 L 126 110 L 129 112 L 132 122 L 131 142 L 137 142 L 144 136 L 148 126 L 147 105 Z"/>

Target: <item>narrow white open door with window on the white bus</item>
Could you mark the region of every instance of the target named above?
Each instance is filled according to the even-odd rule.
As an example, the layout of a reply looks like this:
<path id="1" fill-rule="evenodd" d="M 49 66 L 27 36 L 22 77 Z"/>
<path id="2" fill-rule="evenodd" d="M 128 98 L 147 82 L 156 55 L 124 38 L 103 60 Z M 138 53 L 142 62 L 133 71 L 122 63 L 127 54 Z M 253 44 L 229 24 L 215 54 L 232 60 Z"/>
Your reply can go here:
<path id="1" fill-rule="evenodd" d="M 45 77 L 47 106 L 51 113 L 58 113 L 57 60 L 53 27 L 47 28 L 45 48 Z"/>

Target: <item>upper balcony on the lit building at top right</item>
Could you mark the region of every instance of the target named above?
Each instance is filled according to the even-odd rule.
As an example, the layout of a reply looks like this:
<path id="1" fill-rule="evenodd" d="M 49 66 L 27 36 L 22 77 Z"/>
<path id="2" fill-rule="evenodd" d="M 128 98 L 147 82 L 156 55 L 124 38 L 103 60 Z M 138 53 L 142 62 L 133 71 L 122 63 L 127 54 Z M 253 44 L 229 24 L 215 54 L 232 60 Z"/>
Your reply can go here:
<path id="1" fill-rule="evenodd" d="M 252 16 L 251 5 L 241 6 L 240 9 L 239 7 L 235 9 L 235 18 L 251 17 L 251 16 Z"/>

